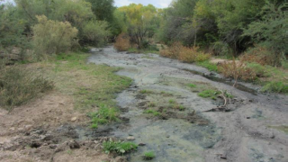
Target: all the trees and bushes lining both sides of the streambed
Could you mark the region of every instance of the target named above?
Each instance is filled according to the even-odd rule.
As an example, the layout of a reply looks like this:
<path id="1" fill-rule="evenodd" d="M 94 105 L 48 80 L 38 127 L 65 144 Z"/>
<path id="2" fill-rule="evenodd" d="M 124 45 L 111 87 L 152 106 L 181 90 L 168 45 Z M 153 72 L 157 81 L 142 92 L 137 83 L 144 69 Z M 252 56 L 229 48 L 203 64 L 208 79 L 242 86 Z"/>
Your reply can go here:
<path id="1" fill-rule="evenodd" d="M 79 51 L 89 46 L 103 47 L 111 42 L 119 51 L 159 53 L 207 67 L 231 77 L 236 84 L 238 80 L 248 81 L 263 85 L 263 92 L 288 93 L 288 4 L 285 1 L 176 0 L 164 9 L 152 4 L 117 8 L 113 3 L 112 0 L 2 2 L 2 103 L 9 106 L 27 103 L 52 85 L 58 85 L 41 75 L 19 74 L 21 64 L 67 58 L 71 53 L 74 58 L 76 53 L 82 56 Z M 224 61 L 213 62 L 215 58 Z M 57 67 L 61 67 L 58 61 Z M 72 62 L 72 67 L 79 63 Z M 103 73 L 112 75 L 114 69 L 100 69 L 103 68 L 109 68 L 109 74 L 105 70 Z M 20 70 L 17 73 L 14 69 Z M 19 86 L 17 92 L 21 92 L 16 94 L 28 93 L 19 96 L 22 99 L 10 95 L 15 91 L 9 85 L 20 84 L 20 77 L 23 82 L 40 84 L 36 84 L 37 90 L 31 94 L 25 90 L 31 89 L 31 84 Z M 17 83 L 14 78 L 19 78 Z M 118 88 L 114 88 L 112 92 L 117 92 Z M 85 89 L 82 91 L 87 93 Z"/>

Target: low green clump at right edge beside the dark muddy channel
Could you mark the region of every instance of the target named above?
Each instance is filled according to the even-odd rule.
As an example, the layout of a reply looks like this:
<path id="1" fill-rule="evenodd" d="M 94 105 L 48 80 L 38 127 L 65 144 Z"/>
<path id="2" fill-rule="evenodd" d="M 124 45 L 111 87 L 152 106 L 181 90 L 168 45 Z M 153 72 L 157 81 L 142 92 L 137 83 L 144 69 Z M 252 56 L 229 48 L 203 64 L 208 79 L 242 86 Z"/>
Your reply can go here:
<path id="1" fill-rule="evenodd" d="M 288 94 L 288 85 L 284 84 L 283 82 L 270 82 L 266 84 L 262 89 L 262 92 L 275 92 L 275 93 L 282 93 Z"/>

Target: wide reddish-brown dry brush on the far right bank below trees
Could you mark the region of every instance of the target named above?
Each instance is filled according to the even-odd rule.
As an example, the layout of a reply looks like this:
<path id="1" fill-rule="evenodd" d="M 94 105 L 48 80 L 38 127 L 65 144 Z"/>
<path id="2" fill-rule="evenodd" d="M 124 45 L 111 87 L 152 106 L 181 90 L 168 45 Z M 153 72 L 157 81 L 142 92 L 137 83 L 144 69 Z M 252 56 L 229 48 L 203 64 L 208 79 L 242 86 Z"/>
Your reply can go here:
<path id="1" fill-rule="evenodd" d="M 202 62 L 211 58 L 211 54 L 199 51 L 199 47 L 184 47 L 180 42 L 175 42 L 171 47 L 160 51 L 160 55 L 167 58 L 177 58 L 183 62 Z"/>

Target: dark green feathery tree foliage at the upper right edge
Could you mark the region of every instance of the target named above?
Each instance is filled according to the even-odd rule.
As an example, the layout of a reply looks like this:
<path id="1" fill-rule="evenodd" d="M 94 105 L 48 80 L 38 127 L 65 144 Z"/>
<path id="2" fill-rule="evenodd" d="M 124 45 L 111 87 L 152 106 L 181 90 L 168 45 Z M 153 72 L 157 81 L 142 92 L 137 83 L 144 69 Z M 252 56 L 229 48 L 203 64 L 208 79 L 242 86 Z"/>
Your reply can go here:
<path id="1" fill-rule="evenodd" d="M 274 64 L 280 65 L 284 54 L 288 53 L 288 14 L 286 11 L 288 4 L 276 6 L 266 4 L 262 9 L 260 21 L 250 23 L 245 36 L 250 36 L 254 42 L 273 51 Z"/>

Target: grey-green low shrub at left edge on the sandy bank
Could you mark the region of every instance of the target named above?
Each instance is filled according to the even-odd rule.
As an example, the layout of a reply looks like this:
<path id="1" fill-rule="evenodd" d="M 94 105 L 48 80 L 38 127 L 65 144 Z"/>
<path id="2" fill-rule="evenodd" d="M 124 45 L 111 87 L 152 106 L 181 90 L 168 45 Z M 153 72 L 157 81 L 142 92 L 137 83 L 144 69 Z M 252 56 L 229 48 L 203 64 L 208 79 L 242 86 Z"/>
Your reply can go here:
<path id="1" fill-rule="evenodd" d="M 0 68 L 0 105 L 11 109 L 53 88 L 53 83 L 22 67 Z"/>

